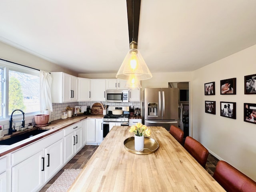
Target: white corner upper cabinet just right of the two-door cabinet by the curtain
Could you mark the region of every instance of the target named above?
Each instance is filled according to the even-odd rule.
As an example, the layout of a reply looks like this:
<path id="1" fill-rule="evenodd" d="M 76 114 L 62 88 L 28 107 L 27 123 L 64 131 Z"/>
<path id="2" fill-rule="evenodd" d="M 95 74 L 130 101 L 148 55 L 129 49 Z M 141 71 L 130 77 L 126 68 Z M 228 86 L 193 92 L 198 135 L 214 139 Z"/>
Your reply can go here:
<path id="1" fill-rule="evenodd" d="M 78 77 L 78 101 L 90 101 L 91 80 Z"/>

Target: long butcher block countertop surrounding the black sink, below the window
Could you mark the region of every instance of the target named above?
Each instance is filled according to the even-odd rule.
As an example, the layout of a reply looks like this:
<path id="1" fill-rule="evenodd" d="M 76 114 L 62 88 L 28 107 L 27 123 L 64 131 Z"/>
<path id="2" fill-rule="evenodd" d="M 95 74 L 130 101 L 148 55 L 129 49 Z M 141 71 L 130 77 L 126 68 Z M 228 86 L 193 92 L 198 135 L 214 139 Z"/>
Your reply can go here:
<path id="1" fill-rule="evenodd" d="M 48 126 L 39 128 L 39 129 L 48 129 L 49 131 L 43 132 L 34 137 L 28 138 L 26 140 L 20 141 L 18 143 L 12 144 L 12 145 L 0 145 L 0 157 L 5 154 L 8 154 L 10 152 L 13 152 L 14 150 L 22 148 L 32 142 L 35 142 L 35 141 L 40 140 L 46 136 L 49 136 L 50 134 L 53 134 L 53 133 L 55 133 L 59 130 L 62 130 L 68 126 L 71 126 L 71 125 L 76 124 L 82 120 L 85 120 L 86 118 L 103 118 L 103 117 L 104 117 L 104 115 L 98 115 L 98 114 L 97 115 L 77 115 L 77 116 L 72 116 L 67 119 L 59 119 L 59 120 L 52 121 Z M 23 132 L 29 132 L 30 130 L 34 130 L 34 129 L 36 129 L 36 128 L 32 128 L 29 130 L 27 129 L 22 132 L 17 131 L 17 132 L 14 132 L 12 135 L 4 136 L 3 139 L 10 138 L 11 136 L 15 136 L 16 134 L 21 134 Z"/>

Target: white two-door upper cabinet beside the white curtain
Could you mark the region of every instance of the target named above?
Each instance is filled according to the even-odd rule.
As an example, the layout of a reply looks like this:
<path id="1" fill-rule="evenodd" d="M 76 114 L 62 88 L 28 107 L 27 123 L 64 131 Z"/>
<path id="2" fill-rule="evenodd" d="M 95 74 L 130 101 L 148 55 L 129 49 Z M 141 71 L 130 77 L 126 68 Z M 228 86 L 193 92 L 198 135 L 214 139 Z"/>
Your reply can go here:
<path id="1" fill-rule="evenodd" d="M 78 78 L 63 72 L 51 72 L 52 102 L 65 103 L 77 101 Z"/>

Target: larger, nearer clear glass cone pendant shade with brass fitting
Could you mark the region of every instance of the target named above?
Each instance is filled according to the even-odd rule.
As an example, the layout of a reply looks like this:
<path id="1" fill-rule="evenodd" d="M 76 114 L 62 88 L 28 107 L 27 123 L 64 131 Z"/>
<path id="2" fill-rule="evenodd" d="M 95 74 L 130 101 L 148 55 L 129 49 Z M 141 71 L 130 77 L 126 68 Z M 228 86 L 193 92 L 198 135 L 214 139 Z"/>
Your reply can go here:
<path id="1" fill-rule="evenodd" d="M 136 76 L 137 80 L 146 80 L 152 78 L 152 74 L 142 58 L 137 43 L 132 41 L 130 43 L 130 50 L 126 54 L 122 65 L 120 66 L 116 78 L 129 80 L 131 76 Z"/>

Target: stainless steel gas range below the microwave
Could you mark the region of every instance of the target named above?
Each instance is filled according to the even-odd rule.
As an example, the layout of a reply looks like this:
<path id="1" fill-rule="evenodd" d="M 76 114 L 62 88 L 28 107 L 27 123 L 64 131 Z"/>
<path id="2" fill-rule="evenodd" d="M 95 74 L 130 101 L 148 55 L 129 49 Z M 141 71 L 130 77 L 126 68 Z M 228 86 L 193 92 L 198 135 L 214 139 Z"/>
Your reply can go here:
<path id="1" fill-rule="evenodd" d="M 123 114 L 112 114 L 112 110 L 116 109 L 123 110 Z M 108 114 L 106 114 L 103 118 L 103 138 L 106 137 L 106 135 L 112 129 L 113 126 L 129 126 L 129 114 L 129 107 L 109 106 Z"/>

